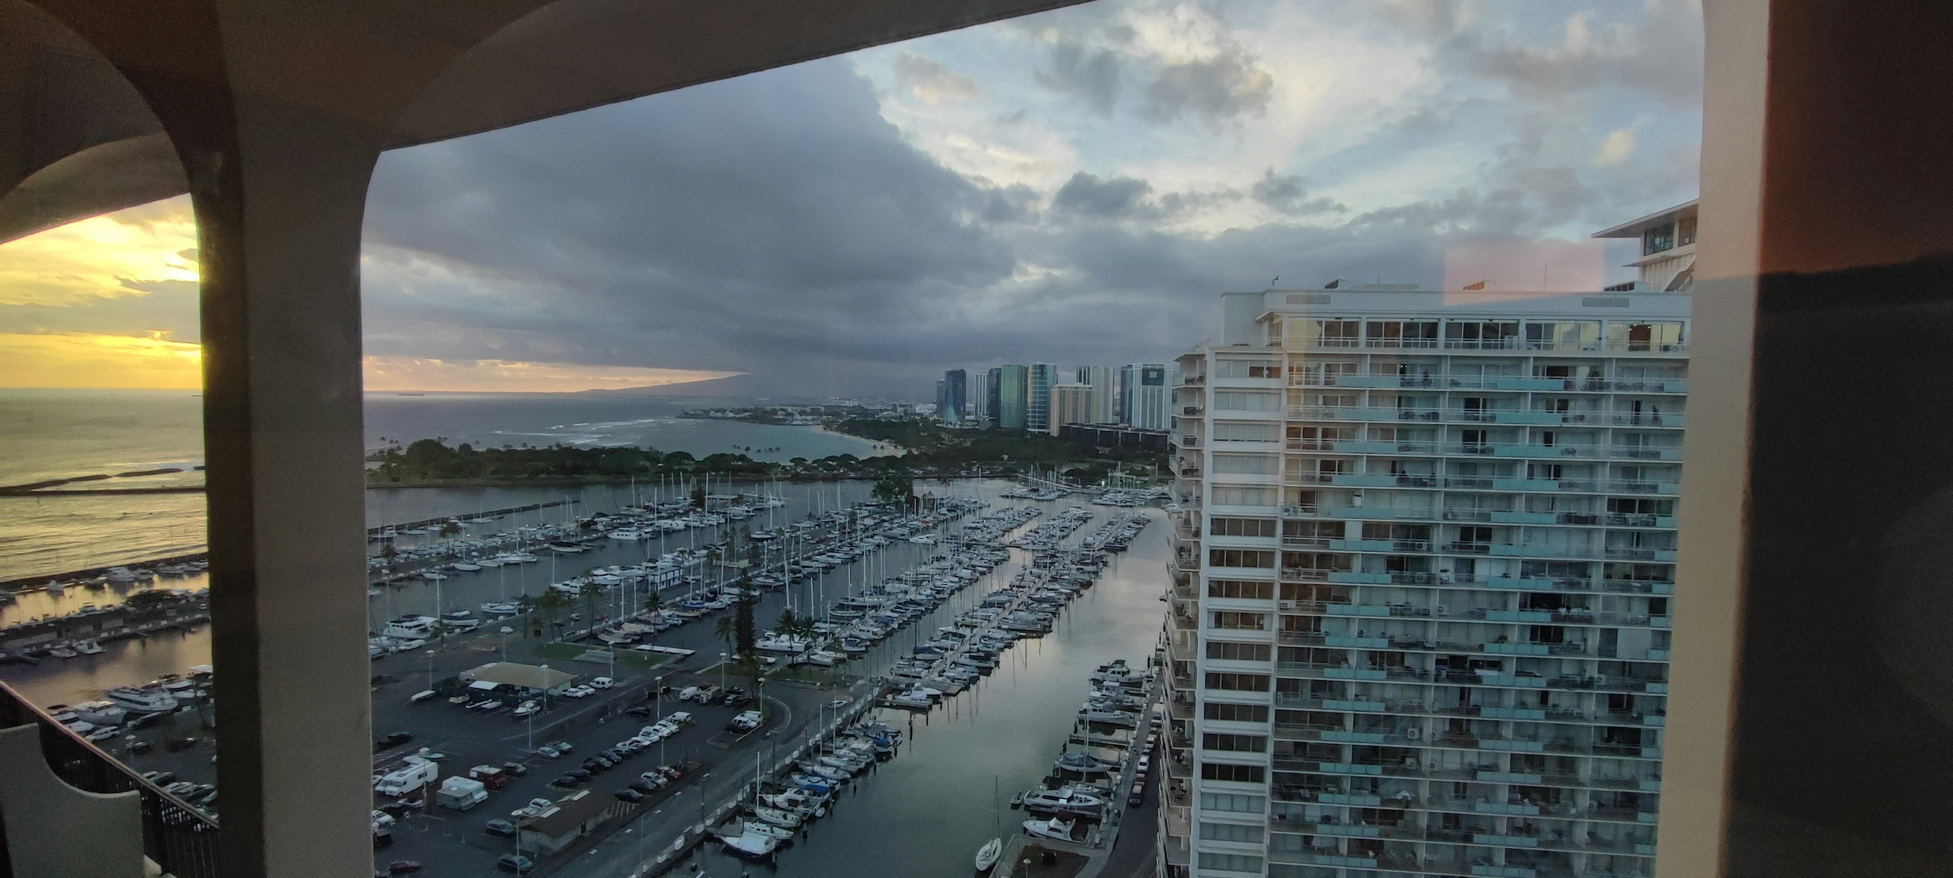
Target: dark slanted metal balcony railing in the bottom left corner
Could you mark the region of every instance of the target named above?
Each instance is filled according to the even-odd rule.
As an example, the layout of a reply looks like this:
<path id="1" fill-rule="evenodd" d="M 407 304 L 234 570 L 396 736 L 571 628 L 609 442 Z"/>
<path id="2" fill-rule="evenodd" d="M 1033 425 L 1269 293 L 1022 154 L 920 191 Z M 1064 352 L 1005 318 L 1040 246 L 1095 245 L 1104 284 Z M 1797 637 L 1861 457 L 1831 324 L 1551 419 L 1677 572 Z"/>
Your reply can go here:
<path id="1" fill-rule="evenodd" d="M 0 728 L 41 726 L 41 755 L 68 786 L 86 792 L 135 790 L 143 812 L 143 855 L 178 878 L 217 878 L 217 821 L 162 792 L 115 757 L 55 722 L 14 687 L 0 683 Z M 74 839 L 86 843 L 86 839 Z M 6 841 L 0 839 L 0 862 Z"/>

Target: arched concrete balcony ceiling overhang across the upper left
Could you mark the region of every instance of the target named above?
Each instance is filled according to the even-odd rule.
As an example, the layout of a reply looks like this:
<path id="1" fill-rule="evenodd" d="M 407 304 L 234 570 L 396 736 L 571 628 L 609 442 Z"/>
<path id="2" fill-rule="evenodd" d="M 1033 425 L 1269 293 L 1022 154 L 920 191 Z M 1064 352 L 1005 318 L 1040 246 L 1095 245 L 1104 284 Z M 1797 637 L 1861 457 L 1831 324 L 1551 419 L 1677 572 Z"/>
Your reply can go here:
<path id="1" fill-rule="evenodd" d="M 186 84 L 398 148 L 1076 2 L 0 0 L 0 242 L 187 191 Z"/>

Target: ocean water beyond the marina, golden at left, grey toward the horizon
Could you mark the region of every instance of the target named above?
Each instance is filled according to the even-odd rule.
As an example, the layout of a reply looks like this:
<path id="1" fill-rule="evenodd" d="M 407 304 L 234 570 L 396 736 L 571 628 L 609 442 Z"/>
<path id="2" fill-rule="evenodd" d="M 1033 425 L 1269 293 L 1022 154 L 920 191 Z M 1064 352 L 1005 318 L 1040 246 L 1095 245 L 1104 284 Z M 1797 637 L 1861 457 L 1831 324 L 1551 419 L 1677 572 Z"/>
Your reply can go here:
<path id="1" fill-rule="evenodd" d="M 760 460 L 893 449 L 828 433 L 744 421 L 684 419 L 687 408 L 738 400 L 582 394 L 367 394 L 367 447 L 441 437 L 475 445 L 652 447 Z M 201 484 L 203 400 L 189 390 L 0 390 L 0 484 L 182 468 L 119 478 L 119 488 Z M 562 499 L 607 488 L 406 488 L 367 492 L 367 525 Z M 72 498 L 0 496 L 0 579 L 53 576 L 203 548 L 201 494 Z"/>

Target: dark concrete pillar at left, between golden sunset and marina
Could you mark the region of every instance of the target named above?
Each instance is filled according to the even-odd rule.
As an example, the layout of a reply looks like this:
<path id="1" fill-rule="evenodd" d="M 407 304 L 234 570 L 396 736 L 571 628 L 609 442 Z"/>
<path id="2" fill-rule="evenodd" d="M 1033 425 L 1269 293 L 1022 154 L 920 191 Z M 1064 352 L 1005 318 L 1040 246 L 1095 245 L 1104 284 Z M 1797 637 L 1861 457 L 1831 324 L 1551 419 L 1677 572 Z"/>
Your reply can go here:
<path id="1" fill-rule="evenodd" d="M 236 101 L 189 168 L 225 874 L 371 862 L 359 226 L 373 139 Z"/>

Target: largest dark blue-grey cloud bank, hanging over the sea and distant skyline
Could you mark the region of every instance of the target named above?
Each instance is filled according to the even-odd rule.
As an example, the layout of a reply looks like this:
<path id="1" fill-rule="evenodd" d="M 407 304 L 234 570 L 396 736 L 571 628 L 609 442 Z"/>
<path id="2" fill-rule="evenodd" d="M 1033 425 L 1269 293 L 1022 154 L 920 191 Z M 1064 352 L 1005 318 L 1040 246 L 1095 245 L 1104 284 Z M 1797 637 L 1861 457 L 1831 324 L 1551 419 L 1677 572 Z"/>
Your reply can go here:
<path id="1" fill-rule="evenodd" d="M 1451 238 L 1549 201 L 1514 181 L 1332 226 L 1158 228 L 1242 197 L 1318 201 L 1273 170 L 1248 193 L 998 187 L 910 146 L 846 62 L 801 64 L 385 156 L 367 353 L 916 396 L 949 367 L 1172 357 L 1217 291 L 1273 275 L 1437 283 Z"/>

